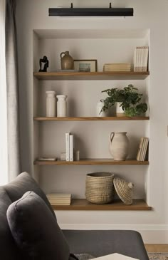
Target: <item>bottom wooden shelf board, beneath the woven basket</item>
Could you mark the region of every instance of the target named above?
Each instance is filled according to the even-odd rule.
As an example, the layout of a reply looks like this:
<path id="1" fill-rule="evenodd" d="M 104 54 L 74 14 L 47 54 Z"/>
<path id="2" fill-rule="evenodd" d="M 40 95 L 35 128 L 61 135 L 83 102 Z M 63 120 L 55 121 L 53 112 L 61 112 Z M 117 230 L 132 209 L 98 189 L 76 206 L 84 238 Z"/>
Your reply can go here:
<path id="1" fill-rule="evenodd" d="M 69 206 L 52 206 L 54 210 L 152 210 L 143 199 L 134 199 L 132 205 L 126 205 L 121 201 L 111 204 L 93 204 L 86 199 L 72 199 Z"/>

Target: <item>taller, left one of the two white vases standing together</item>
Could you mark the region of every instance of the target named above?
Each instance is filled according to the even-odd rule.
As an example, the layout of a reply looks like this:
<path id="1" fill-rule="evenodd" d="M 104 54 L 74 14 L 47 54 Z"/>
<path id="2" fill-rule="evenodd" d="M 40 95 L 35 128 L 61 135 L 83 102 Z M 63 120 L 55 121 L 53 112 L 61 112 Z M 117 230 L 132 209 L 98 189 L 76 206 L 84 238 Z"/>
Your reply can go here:
<path id="1" fill-rule="evenodd" d="M 46 117 L 56 117 L 56 91 L 46 91 Z"/>

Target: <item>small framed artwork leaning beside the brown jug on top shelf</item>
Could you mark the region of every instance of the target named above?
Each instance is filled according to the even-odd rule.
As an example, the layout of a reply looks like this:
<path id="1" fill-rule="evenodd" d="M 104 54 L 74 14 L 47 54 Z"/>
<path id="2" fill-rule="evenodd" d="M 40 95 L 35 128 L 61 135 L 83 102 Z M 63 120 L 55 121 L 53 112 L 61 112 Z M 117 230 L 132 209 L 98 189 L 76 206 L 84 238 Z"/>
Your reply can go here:
<path id="1" fill-rule="evenodd" d="M 80 72 L 96 72 L 97 60 L 74 60 L 74 68 Z"/>

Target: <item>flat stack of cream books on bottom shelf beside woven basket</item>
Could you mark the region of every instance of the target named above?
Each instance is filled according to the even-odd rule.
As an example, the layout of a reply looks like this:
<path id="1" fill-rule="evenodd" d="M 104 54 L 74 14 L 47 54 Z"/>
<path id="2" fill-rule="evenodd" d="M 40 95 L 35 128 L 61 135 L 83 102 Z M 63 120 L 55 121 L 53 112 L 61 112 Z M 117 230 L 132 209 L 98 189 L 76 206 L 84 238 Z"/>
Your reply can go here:
<path id="1" fill-rule="evenodd" d="M 52 206 L 70 205 L 72 194 L 51 193 L 46 195 Z"/>

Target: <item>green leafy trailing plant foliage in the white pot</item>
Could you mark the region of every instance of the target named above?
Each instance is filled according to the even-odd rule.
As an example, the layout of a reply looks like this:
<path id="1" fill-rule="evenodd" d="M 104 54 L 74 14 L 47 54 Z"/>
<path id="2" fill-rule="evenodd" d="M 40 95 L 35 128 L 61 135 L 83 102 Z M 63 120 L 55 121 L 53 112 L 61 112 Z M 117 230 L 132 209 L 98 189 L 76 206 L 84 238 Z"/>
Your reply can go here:
<path id="1" fill-rule="evenodd" d="M 133 85 L 128 85 L 123 89 L 109 88 L 103 90 L 102 93 L 107 93 L 108 97 L 104 102 L 103 111 L 108 110 L 119 102 L 125 115 L 133 117 L 135 115 L 142 115 L 147 111 L 147 103 L 141 103 L 142 94 L 137 92 L 138 89 Z"/>

